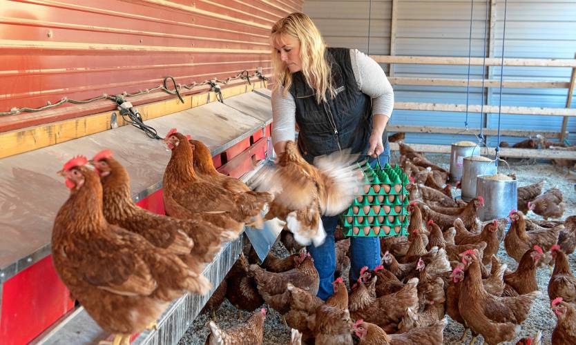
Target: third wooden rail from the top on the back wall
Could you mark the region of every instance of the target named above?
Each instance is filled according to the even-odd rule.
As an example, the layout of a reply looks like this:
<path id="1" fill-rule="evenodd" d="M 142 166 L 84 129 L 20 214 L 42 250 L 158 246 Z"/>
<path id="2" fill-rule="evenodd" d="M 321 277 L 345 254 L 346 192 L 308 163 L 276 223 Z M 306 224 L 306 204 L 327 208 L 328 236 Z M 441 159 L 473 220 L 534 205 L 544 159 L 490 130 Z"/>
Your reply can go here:
<path id="1" fill-rule="evenodd" d="M 468 106 L 468 112 L 480 112 L 480 105 Z M 425 110 L 425 111 L 449 111 L 466 112 L 465 104 L 445 103 L 419 103 L 419 102 L 396 102 L 395 110 Z M 502 106 L 503 114 L 509 115 L 543 115 L 543 116 L 576 116 L 576 109 L 566 108 L 540 108 L 540 107 L 517 107 Z M 498 112 L 498 106 L 484 106 L 484 113 Z"/>

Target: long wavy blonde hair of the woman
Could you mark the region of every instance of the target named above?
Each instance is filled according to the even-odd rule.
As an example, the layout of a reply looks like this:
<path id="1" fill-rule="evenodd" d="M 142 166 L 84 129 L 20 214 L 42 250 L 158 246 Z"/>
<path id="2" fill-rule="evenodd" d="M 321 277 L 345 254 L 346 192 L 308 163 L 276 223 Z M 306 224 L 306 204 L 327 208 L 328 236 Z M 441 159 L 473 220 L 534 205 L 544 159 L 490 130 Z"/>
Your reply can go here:
<path id="1" fill-rule="evenodd" d="M 326 94 L 334 97 L 332 87 L 332 74 L 328 61 L 325 58 L 326 44 L 310 17 L 304 13 L 294 12 L 280 19 L 272 26 L 270 43 L 272 47 L 272 63 L 276 84 L 274 88 L 284 86 L 284 96 L 287 95 L 292 85 L 292 74 L 287 67 L 282 66 L 280 55 L 274 48 L 274 42 L 282 39 L 282 36 L 290 36 L 300 41 L 300 59 L 302 60 L 301 71 L 308 85 L 316 90 L 316 101 L 327 101 Z"/>

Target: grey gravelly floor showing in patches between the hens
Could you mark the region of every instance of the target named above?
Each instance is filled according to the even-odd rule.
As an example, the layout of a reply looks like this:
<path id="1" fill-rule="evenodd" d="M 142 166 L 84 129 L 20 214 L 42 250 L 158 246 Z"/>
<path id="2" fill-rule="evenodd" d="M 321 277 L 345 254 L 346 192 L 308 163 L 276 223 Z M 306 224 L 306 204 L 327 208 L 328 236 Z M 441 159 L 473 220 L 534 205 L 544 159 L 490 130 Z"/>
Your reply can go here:
<path id="1" fill-rule="evenodd" d="M 434 162 L 439 162 L 439 165 L 444 168 L 448 168 L 449 166 L 449 155 L 428 155 L 428 157 L 430 157 Z M 536 162 L 534 160 L 510 161 L 510 168 L 512 172 L 516 173 L 517 178 L 519 179 L 519 186 L 525 186 L 540 181 L 541 179 L 545 179 L 546 184 L 544 185 L 544 191 L 548 188 L 558 187 L 562 193 L 564 193 L 564 201 L 566 202 L 564 218 L 569 215 L 576 215 L 576 187 L 575 175 L 573 175 L 573 173 L 566 176 L 566 170 L 563 172 L 561 168 L 558 168 L 557 166 Z M 508 173 L 508 168 L 503 168 L 500 171 Z M 534 215 L 533 213 L 529 213 L 528 216 L 535 219 L 541 219 L 541 217 Z M 285 250 L 282 244 L 279 243 L 274 246 L 273 251 L 278 256 L 287 255 L 287 250 Z M 517 263 L 514 259 L 511 259 L 506 255 L 503 245 L 501 245 L 498 255 L 504 263 L 508 264 L 508 268 L 512 270 L 516 269 Z M 576 254 L 570 255 L 569 261 L 573 272 L 576 272 Z M 346 281 L 347 277 L 344 277 L 344 279 Z M 550 301 L 547 293 L 548 279 L 550 279 L 548 269 L 539 268 L 537 271 L 537 282 L 539 289 L 541 290 L 541 295 L 532 305 L 528 319 L 526 319 L 526 321 L 521 325 L 522 331 L 519 337 L 515 339 L 515 342 L 503 344 L 516 344 L 516 341 L 521 337 L 535 335 L 539 330 L 543 332 L 542 344 L 550 344 L 550 336 L 556 324 L 556 317 L 549 308 Z M 251 313 L 242 311 L 242 319 L 247 319 L 249 315 L 251 315 Z M 200 315 L 188 329 L 186 335 L 184 335 L 180 341 L 180 344 L 204 344 L 207 335 L 209 334 L 208 328 L 205 327 L 204 324 L 209 321 L 210 317 L 210 315 L 206 314 Z M 224 301 L 216 313 L 215 321 L 224 328 L 238 324 L 238 311 L 228 301 Z M 448 317 L 448 326 L 444 331 L 444 343 L 462 344 L 459 342 L 462 331 L 462 325 L 453 322 L 452 319 Z M 289 340 L 289 329 L 284 328 L 280 315 L 276 313 L 276 311 L 273 311 L 273 309 L 269 309 L 265 322 L 264 344 L 288 344 Z M 465 339 L 463 344 L 470 344 L 470 340 L 470 333 L 468 333 L 468 337 Z M 477 344 L 483 344 L 481 336 L 478 337 Z"/>

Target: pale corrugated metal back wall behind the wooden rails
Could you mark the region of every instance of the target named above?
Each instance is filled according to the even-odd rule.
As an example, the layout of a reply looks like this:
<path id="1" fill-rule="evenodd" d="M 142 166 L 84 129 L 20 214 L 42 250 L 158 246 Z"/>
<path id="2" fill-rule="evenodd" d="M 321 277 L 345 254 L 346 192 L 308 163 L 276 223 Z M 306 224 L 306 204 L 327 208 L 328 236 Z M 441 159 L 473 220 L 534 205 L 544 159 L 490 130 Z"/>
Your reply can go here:
<path id="1" fill-rule="evenodd" d="M 490 1 L 475 0 L 472 21 L 472 57 L 481 57 L 484 46 L 486 11 Z M 488 5 L 487 5 L 488 3 Z M 399 0 L 396 24 L 396 55 L 468 56 L 472 0 Z M 305 1 L 304 11 L 314 19 L 329 46 L 358 48 L 375 55 L 390 54 L 392 0 Z M 504 1 L 496 4 L 497 24 L 492 42 L 493 56 L 501 57 Z M 369 32 L 369 34 L 368 34 Z M 369 36 L 369 39 L 368 39 Z M 490 43 L 487 43 L 488 56 Z M 508 0 L 505 57 L 572 59 L 576 52 L 576 0 Z M 387 71 L 387 65 L 383 65 Z M 570 68 L 505 67 L 504 79 L 569 81 Z M 396 65 L 395 77 L 441 77 L 466 79 L 468 66 Z M 470 79 L 481 79 L 482 67 L 470 68 Z M 499 78 L 500 68 L 490 68 L 490 78 Z M 488 77 L 488 74 L 484 76 Z M 396 101 L 466 103 L 466 90 L 443 86 L 394 86 Z M 503 106 L 562 108 L 566 89 L 503 89 Z M 470 88 L 470 104 L 481 103 L 481 88 Z M 498 105 L 499 90 L 490 89 L 488 104 Z M 575 102 L 573 102 L 573 107 Z M 497 115 L 488 115 L 488 127 L 497 128 Z M 452 112 L 394 110 L 391 124 L 464 127 L 465 115 Z M 554 130 L 561 117 L 506 115 L 502 129 Z M 470 128 L 478 128 L 479 114 L 468 115 Z M 576 141 L 576 121 L 568 121 L 570 141 Z M 459 135 L 408 134 L 408 142 L 450 144 Z M 470 139 L 470 138 L 468 138 Z M 515 143 L 523 138 L 503 137 Z M 493 146 L 495 137 L 488 138 Z"/>

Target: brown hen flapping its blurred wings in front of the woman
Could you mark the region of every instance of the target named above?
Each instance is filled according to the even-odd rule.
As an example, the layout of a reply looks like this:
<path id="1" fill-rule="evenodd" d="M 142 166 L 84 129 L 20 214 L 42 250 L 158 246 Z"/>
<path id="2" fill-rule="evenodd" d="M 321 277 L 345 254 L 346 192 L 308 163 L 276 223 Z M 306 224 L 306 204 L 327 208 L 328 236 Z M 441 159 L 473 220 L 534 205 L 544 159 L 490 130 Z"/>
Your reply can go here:
<path id="1" fill-rule="evenodd" d="M 299 244 L 320 246 L 326 237 L 320 216 L 338 215 L 350 206 L 362 186 L 356 156 L 349 151 L 316 157 L 314 166 L 287 141 L 276 167 L 264 166 L 251 181 L 257 190 L 274 195 L 269 217 L 287 222 Z"/>

